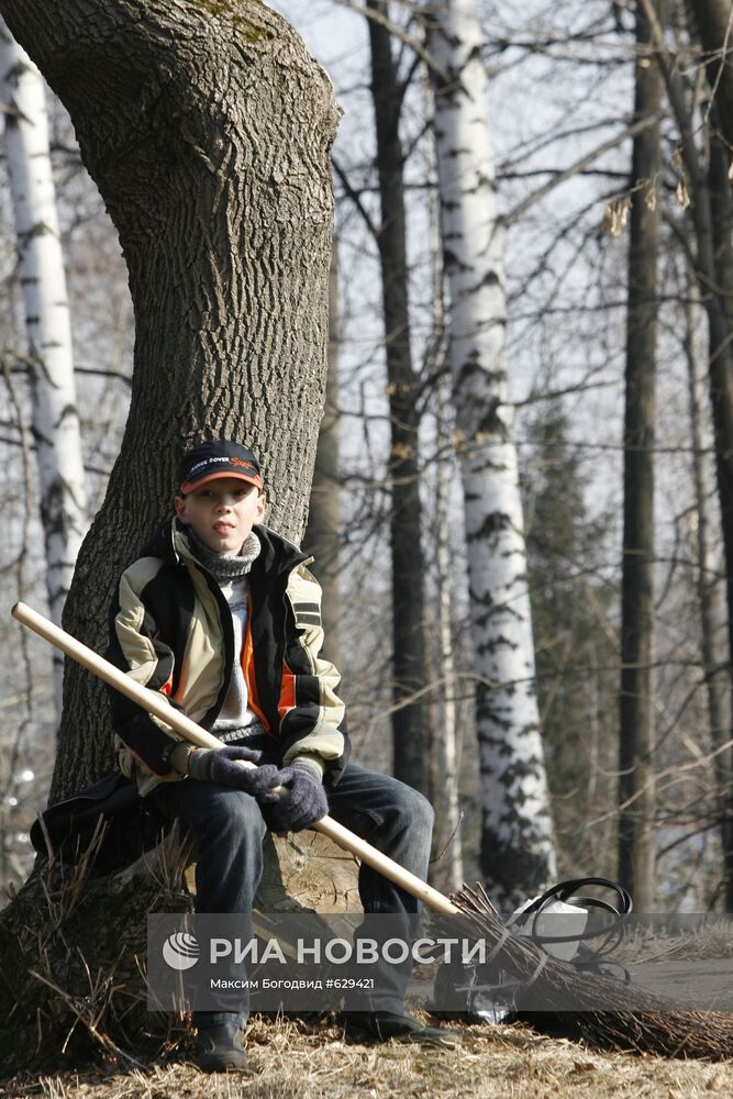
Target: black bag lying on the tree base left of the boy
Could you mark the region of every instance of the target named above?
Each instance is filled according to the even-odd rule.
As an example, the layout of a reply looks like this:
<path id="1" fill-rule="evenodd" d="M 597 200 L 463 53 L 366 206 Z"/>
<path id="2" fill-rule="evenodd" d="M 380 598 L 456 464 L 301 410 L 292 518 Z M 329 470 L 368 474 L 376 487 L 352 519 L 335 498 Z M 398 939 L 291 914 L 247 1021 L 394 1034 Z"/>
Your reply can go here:
<path id="1" fill-rule="evenodd" d="M 41 856 L 48 856 L 45 825 L 54 855 L 65 866 L 73 866 L 87 852 L 100 818 L 105 829 L 93 861 L 95 875 L 132 865 L 160 842 L 169 825 L 140 797 L 134 782 L 113 770 L 40 813 L 31 828 L 31 843 Z"/>

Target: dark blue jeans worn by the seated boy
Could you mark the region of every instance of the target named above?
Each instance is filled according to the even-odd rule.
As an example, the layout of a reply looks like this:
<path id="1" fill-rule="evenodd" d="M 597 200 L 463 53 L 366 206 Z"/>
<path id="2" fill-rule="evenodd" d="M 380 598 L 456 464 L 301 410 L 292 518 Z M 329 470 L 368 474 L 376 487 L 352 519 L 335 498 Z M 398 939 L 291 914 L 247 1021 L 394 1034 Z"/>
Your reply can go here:
<path id="1" fill-rule="evenodd" d="M 433 809 L 421 793 L 388 775 L 352 763 L 337 786 L 326 788 L 326 793 L 334 820 L 425 880 Z M 164 815 L 179 818 L 195 835 L 196 911 L 240 912 L 245 918 L 243 933 L 251 936 L 266 832 L 255 799 L 232 787 L 193 779 L 164 782 L 149 798 Z M 401 917 L 404 937 L 409 941 L 413 936 L 420 901 L 364 863 L 358 887 L 365 912 Z M 409 975 L 409 968 L 393 966 L 380 973 L 379 1007 L 401 1009 Z M 195 1012 L 193 1021 L 199 1028 L 212 1026 L 235 1017 L 242 1023 L 246 1021 L 246 1002 L 238 1003 L 233 1012 Z"/>

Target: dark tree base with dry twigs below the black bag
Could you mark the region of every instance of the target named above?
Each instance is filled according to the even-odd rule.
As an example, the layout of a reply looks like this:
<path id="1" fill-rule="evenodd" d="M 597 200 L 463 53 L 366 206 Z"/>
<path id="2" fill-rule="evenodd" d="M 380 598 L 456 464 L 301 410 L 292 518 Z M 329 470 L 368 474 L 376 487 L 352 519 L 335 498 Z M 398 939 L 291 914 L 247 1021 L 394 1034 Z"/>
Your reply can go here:
<path id="1" fill-rule="evenodd" d="M 122 874 L 95 878 L 101 832 L 71 866 L 53 854 L 0 912 L 0 1062 L 56 1069 L 99 1058 L 131 1068 L 187 1039 L 147 1010 L 146 917 L 188 911 L 190 847 L 173 829 Z"/>

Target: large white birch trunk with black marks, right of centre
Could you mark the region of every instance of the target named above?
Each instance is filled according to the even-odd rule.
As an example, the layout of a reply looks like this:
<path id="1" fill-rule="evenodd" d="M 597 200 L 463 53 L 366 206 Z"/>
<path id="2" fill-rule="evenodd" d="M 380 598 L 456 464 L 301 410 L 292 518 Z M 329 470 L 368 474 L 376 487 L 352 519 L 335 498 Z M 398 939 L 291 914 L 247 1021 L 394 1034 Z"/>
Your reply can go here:
<path id="1" fill-rule="evenodd" d="M 465 499 L 481 768 L 482 870 L 497 899 L 555 874 L 512 409 L 503 231 L 475 0 L 429 8 L 451 370 Z"/>

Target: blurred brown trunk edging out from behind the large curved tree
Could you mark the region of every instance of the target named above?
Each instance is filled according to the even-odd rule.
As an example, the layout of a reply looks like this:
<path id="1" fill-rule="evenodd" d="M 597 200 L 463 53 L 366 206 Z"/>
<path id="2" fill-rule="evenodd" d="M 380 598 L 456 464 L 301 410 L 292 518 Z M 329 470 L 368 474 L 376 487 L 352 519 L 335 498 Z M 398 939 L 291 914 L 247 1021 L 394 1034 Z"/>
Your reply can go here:
<path id="1" fill-rule="evenodd" d="M 341 482 L 338 477 L 338 253 L 333 244 L 329 276 L 329 371 L 325 407 L 319 430 L 313 485 L 303 550 L 315 557 L 323 599 L 321 618 L 327 657 L 341 668 L 338 620 L 341 617 Z"/>

